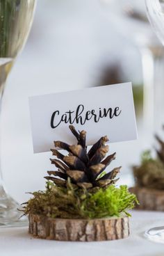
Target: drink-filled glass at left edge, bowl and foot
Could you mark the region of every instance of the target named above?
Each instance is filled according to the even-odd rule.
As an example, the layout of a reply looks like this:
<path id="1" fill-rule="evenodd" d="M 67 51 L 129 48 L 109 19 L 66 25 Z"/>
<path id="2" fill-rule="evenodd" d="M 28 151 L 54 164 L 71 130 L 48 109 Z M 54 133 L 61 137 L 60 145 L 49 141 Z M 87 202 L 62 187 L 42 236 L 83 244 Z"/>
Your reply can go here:
<path id="1" fill-rule="evenodd" d="M 0 0 L 0 107 L 8 74 L 33 22 L 35 0 Z M 0 170 L 0 226 L 23 225 L 19 204 L 8 195 Z"/>

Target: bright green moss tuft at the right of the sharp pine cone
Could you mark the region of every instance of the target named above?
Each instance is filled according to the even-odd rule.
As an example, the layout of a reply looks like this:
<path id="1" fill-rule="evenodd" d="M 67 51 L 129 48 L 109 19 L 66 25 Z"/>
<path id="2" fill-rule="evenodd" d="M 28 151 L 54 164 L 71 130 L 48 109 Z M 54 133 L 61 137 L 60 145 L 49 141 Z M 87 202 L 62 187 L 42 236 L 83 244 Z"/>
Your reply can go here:
<path id="1" fill-rule="evenodd" d="M 102 218 L 120 216 L 122 212 L 127 214 L 126 210 L 133 209 L 136 202 L 136 195 L 129 193 L 127 186 L 111 185 L 86 198 L 82 207 L 85 217 Z"/>

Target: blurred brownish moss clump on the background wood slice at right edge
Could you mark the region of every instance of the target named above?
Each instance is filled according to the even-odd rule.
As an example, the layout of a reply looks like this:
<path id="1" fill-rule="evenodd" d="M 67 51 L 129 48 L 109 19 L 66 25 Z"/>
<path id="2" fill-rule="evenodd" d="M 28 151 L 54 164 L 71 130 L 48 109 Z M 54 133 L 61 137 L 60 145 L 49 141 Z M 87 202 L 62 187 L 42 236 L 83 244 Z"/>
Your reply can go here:
<path id="1" fill-rule="evenodd" d="M 142 154 L 140 166 L 133 167 L 137 186 L 149 189 L 164 189 L 164 164 L 160 159 L 153 159 L 151 152 Z"/>

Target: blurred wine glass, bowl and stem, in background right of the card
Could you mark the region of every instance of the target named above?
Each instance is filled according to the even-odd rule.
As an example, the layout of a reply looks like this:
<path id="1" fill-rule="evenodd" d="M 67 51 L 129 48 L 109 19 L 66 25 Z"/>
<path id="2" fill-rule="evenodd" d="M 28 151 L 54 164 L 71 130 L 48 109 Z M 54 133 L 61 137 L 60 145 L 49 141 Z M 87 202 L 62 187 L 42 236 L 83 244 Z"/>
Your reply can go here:
<path id="1" fill-rule="evenodd" d="M 154 95 L 154 84 L 156 88 L 161 86 L 161 81 L 154 76 L 156 65 L 160 63 L 163 66 L 161 42 L 151 30 L 143 0 L 101 0 L 100 2 L 117 31 L 135 44 L 140 51 L 144 85 L 143 147 L 149 147 L 156 125 L 154 122 L 154 98 L 157 90 Z"/>

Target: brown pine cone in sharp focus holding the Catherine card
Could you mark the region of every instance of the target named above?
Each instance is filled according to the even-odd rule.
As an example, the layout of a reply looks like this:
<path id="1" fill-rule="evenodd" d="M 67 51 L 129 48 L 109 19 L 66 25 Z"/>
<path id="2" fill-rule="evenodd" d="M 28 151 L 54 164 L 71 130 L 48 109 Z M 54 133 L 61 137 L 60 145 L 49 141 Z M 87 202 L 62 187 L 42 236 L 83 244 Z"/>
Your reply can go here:
<path id="1" fill-rule="evenodd" d="M 115 168 L 101 177 L 106 167 L 115 159 L 115 153 L 104 159 L 108 152 L 108 145 L 105 145 L 108 141 L 107 136 L 101 137 L 87 152 L 85 145 L 86 131 L 77 132 L 73 125 L 69 125 L 69 129 L 76 137 L 78 144 L 68 145 L 61 141 L 54 141 L 55 147 L 67 150 L 69 154 L 65 156 L 58 150 L 51 150 L 53 155 L 60 159 L 50 159 L 58 170 L 48 171 L 49 176 L 45 178 L 53 181 L 56 186 L 66 186 L 69 177 L 72 184 L 83 189 L 92 189 L 97 186 L 106 187 L 110 184 L 115 184 L 117 182 L 115 177 L 120 172 L 121 167 Z M 60 177 L 60 179 L 56 177 Z"/>

